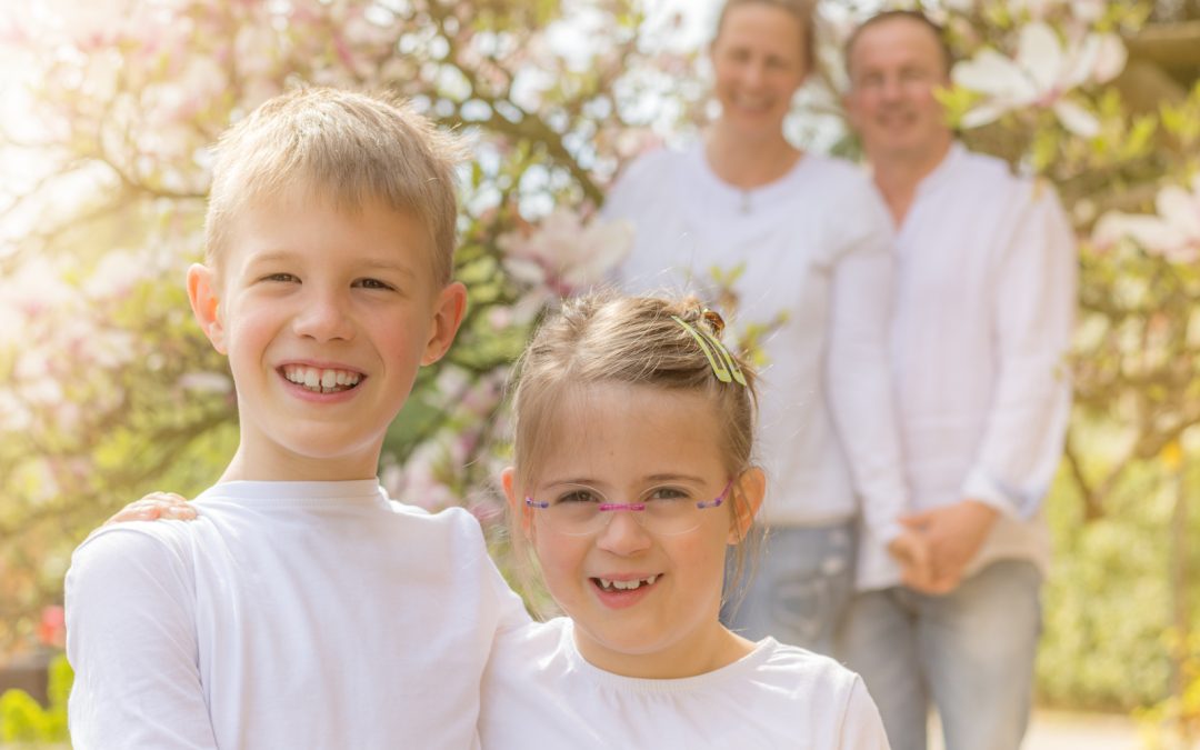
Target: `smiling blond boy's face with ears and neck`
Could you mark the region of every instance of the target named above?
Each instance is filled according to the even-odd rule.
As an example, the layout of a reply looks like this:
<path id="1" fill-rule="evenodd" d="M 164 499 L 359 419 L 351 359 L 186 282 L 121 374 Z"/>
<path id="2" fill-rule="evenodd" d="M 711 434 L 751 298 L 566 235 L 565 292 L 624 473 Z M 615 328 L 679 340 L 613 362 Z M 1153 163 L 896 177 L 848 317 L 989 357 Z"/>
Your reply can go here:
<path id="1" fill-rule="evenodd" d="M 244 209 L 221 274 L 193 266 L 197 319 L 229 356 L 241 445 L 224 479 L 376 475 L 384 433 L 420 365 L 462 319 L 462 284 L 442 287 L 412 216 L 356 214 L 294 187 Z"/>

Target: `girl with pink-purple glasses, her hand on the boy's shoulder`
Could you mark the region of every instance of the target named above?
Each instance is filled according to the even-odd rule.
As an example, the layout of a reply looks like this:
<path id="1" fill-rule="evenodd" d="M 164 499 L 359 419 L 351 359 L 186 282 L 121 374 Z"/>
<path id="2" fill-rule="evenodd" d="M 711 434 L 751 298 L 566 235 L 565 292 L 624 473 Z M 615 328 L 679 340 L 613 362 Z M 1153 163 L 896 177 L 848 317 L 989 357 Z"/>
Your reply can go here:
<path id="1" fill-rule="evenodd" d="M 856 674 L 719 620 L 726 550 L 745 559 L 766 490 L 754 373 L 722 328 L 692 299 L 600 294 L 522 355 L 502 485 L 565 617 L 498 634 L 485 748 L 887 748 Z"/>

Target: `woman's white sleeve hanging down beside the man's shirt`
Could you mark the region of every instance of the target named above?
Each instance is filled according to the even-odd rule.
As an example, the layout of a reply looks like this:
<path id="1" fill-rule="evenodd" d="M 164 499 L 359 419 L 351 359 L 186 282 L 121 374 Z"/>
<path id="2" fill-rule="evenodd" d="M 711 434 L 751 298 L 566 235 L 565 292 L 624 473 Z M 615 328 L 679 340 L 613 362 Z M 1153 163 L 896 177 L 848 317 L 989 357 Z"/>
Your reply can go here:
<path id="1" fill-rule="evenodd" d="M 888 348 L 892 229 L 878 200 L 863 208 L 859 233 L 830 270 L 827 392 L 866 533 L 874 536 L 864 544 L 887 546 L 900 534 L 898 518 L 910 505 Z"/>

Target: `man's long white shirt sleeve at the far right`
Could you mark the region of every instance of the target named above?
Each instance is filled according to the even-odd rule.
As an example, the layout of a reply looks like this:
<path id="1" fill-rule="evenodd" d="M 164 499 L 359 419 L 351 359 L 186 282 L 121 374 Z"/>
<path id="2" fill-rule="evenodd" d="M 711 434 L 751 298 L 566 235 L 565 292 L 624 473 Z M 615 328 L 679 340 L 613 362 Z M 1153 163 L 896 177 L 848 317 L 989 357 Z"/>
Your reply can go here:
<path id="1" fill-rule="evenodd" d="M 1014 518 L 1038 511 L 1062 456 L 1078 275 L 1057 197 L 1042 185 L 1026 194 L 996 278 L 996 395 L 962 485 L 962 497 Z"/>

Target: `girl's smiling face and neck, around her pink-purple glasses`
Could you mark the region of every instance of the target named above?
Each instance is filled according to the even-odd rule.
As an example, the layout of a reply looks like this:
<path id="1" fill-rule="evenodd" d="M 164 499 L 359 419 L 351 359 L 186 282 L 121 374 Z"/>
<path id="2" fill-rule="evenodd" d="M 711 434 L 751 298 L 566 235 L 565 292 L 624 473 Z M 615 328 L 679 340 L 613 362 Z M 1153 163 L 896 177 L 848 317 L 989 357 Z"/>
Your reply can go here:
<path id="1" fill-rule="evenodd" d="M 606 526 L 566 535 L 551 528 L 546 511 L 524 506 L 524 496 L 578 502 L 569 493 L 581 485 L 617 504 L 713 500 L 731 478 L 712 404 L 694 392 L 598 384 L 570 395 L 547 422 L 553 434 L 530 486 L 518 494 L 511 469 L 504 486 L 514 510 L 526 514 L 551 595 L 575 620 L 580 652 L 600 668 L 636 677 L 713 668 L 730 637 L 718 622 L 725 551 L 740 539 L 738 526 L 749 523 L 744 515 L 733 523 L 732 491 L 722 504 L 697 510 L 694 530 L 672 535 L 643 528 L 637 516 L 648 511 L 630 510 L 601 512 Z M 757 509 L 761 473 L 751 474 L 736 490 L 756 494 Z"/>

